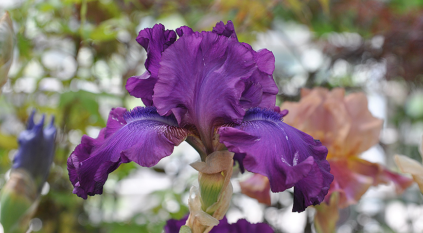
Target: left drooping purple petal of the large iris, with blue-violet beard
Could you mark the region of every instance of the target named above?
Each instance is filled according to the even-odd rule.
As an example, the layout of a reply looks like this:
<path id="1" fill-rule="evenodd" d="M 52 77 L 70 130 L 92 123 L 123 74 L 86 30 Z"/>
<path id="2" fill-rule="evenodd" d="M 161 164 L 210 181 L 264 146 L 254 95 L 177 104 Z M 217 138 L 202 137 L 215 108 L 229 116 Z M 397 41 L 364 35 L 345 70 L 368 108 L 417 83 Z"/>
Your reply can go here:
<path id="1" fill-rule="evenodd" d="M 73 193 L 84 199 L 101 194 L 108 174 L 120 164 L 134 161 L 154 166 L 188 133 L 177 127 L 175 117 L 160 116 L 154 107 L 112 109 L 99 136 L 94 139 L 84 135 L 68 158 Z"/>

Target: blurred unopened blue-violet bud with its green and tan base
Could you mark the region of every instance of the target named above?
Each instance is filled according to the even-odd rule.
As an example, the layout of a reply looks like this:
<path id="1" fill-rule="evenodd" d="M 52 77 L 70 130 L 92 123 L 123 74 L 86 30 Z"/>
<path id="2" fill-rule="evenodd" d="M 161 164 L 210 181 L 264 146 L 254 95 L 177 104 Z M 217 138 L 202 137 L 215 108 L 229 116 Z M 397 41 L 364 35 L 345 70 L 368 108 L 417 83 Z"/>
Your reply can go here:
<path id="1" fill-rule="evenodd" d="M 19 135 L 10 179 L 0 192 L 0 222 L 4 233 L 25 232 L 53 162 L 54 119 L 43 129 L 44 116 L 35 124 L 34 114 L 28 119 L 27 130 Z"/>

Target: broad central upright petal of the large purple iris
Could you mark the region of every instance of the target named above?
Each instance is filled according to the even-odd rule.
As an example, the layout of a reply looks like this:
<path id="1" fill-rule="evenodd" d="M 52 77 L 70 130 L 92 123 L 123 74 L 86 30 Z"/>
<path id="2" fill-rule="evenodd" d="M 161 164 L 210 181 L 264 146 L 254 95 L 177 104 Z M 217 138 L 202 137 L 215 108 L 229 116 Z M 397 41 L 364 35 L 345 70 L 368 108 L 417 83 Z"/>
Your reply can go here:
<path id="1" fill-rule="evenodd" d="M 251 51 L 237 41 L 212 32 L 184 34 L 162 53 L 153 102 L 160 115 L 173 113 L 207 144 L 214 126 L 241 121 L 246 87 L 254 88 L 246 95 L 251 102 L 259 102 L 262 92 L 247 85 L 257 70 Z M 212 145 L 206 148 L 212 152 Z"/>

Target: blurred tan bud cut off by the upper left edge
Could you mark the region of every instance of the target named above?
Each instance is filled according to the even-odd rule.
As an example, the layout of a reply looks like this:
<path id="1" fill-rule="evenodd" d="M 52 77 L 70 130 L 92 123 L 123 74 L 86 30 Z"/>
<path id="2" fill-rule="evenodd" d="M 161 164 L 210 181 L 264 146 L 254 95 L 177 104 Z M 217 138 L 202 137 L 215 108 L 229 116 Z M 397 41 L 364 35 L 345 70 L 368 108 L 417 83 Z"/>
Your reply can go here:
<path id="1" fill-rule="evenodd" d="M 6 83 L 7 73 L 12 64 L 14 37 L 12 20 L 6 12 L 0 18 L 0 89 Z"/>

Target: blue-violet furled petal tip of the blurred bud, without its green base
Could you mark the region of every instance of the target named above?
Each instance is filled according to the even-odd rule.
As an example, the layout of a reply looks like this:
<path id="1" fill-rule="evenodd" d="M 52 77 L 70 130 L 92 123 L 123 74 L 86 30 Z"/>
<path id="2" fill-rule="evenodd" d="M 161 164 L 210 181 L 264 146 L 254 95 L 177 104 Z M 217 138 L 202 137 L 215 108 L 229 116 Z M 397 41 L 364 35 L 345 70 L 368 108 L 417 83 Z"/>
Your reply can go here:
<path id="1" fill-rule="evenodd" d="M 24 169 L 34 178 L 38 192 L 49 175 L 54 157 L 56 128 L 51 123 L 43 129 L 44 115 L 34 123 L 35 111 L 28 118 L 26 130 L 19 134 L 19 150 L 13 159 L 13 169 Z"/>

